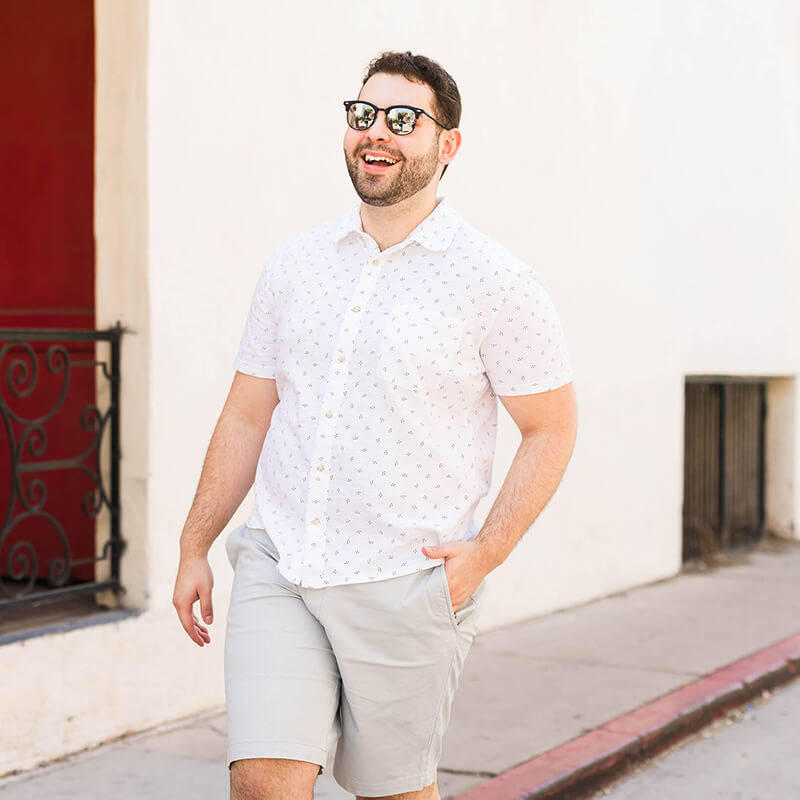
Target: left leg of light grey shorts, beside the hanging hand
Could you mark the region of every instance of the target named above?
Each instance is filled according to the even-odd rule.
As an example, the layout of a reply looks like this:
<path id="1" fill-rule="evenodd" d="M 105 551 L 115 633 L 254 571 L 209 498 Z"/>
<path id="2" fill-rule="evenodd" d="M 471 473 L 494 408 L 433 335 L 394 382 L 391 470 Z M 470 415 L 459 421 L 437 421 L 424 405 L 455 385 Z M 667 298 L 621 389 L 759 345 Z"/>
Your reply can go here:
<path id="1" fill-rule="evenodd" d="M 323 767 L 339 735 L 340 678 L 330 642 L 264 531 L 226 540 L 234 567 L 225 633 L 228 764 L 287 758 Z"/>

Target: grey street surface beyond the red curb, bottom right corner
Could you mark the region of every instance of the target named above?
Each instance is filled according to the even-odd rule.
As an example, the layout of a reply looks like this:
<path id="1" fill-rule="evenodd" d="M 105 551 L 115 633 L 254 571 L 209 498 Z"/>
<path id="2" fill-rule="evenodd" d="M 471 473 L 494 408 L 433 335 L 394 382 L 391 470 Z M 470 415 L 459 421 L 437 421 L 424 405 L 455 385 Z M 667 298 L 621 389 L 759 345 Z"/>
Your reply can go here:
<path id="1" fill-rule="evenodd" d="M 800 678 L 766 692 L 598 792 L 603 800 L 797 800 Z"/>

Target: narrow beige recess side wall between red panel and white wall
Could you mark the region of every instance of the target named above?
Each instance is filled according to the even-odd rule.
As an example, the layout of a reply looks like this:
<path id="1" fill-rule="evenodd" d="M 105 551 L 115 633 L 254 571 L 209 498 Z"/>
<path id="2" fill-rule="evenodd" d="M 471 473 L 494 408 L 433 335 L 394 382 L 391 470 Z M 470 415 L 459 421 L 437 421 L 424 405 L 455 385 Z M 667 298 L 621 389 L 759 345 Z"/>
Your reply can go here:
<path id="1" fill-rule="evenodd" d="M 96 3 L 95 304 L 98 328 L 120 322 L 122 559 L 126 606 L 147 607 L 150 295 L 147 275 L 147 5 Z M 102 401 L 107 382 L 98 380 Z M 98 536 L 102 542 L 107 537 Z M 111 593 L 106 596 L 114 603 Z"/>

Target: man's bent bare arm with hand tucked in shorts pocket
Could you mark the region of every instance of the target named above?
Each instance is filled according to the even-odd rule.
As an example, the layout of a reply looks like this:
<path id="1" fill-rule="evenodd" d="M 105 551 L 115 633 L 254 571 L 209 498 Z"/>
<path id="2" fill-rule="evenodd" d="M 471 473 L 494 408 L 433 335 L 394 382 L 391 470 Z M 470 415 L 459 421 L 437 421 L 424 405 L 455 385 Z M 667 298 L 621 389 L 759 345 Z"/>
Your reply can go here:
<path id="1" fill-rule="evenodd" d="M 522 433 L 503 485 L 478 535 L 469 542 L 423 547 L 444 558 L 453 608 L 506 560 L 556 490 L 575 446 L 578 413 L 572 382 L 549 392 L 501 396 Z"/>

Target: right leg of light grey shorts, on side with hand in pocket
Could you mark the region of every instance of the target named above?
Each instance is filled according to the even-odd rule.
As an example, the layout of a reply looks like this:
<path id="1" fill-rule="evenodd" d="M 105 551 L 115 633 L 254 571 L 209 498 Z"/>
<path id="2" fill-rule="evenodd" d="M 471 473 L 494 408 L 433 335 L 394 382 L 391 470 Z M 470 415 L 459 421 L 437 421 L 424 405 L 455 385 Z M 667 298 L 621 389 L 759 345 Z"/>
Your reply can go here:
<path id="1" fill-rule="evenodd" d="M 342 679 L 333 773 L 353 794 L 418 791 L 436 779 L 484 588 L 454 613 L 446 580 L 440 563 L 326 590 L 322 621 Z"/>

